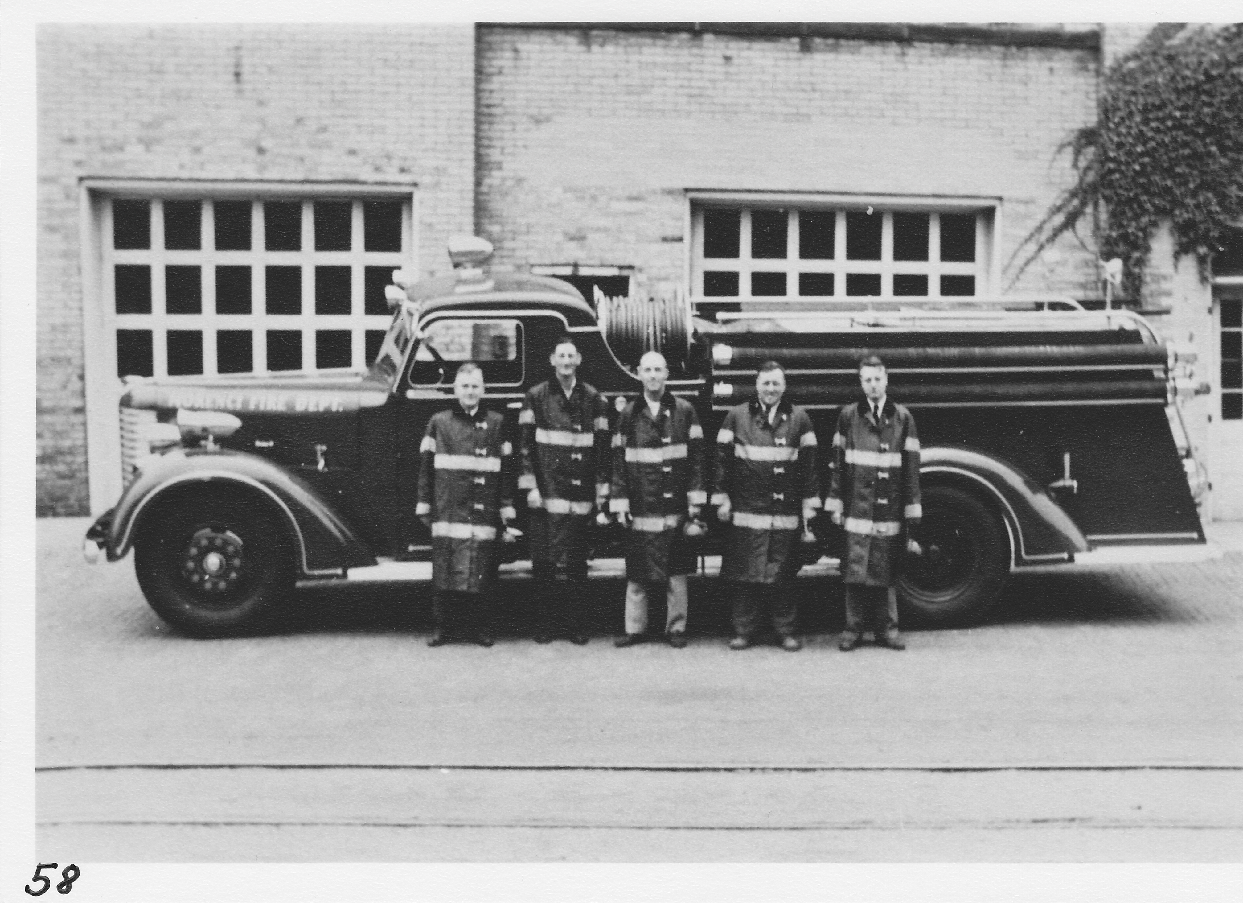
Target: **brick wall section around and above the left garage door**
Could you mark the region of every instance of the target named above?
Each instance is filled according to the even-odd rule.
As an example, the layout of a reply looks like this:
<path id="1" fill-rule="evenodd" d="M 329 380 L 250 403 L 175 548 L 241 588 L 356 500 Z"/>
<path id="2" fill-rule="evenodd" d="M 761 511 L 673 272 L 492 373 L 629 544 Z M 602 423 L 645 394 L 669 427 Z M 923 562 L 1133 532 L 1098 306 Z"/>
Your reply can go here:
<path id="1" fill-rule="evenodd" d="M 416 183 L 420 269 L 470 231 L 474 29 L 42 26 L 37 510 L 87 510 L 80 178 Z"/>

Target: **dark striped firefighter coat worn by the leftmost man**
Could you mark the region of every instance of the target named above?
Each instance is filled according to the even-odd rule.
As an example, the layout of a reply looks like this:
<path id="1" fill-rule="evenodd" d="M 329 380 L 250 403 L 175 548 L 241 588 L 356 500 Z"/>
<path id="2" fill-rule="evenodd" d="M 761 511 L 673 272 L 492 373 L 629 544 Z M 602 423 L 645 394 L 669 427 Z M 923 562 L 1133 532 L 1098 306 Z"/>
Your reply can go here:
<path id="1" fill-rule="evenodd" d="M 513 448 L 505 418 L 480 405 L 428 422 L 419 454 L 416 515 L 431 516 L 431 581 L 436 590 L 484 592 L 496 578 L 501 509 L 513 505 Z"/>

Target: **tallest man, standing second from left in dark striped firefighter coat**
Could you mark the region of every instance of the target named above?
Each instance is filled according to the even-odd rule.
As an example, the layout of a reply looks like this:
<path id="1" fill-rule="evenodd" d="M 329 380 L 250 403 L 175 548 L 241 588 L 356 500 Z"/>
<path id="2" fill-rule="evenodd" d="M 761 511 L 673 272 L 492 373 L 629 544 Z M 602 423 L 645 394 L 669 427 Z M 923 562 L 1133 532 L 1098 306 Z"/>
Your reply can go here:
<path id="1" fill-rule="evenodd" d="M 531 507 L 536 642 L 549 642 L 561 627 L 583 646 L 588 530 L 609 493 L 609 414 L 604 397 L 576 376 L 583 356 L 573 337 L 557 340 L 548 361 L 556 378 L 527 392 L 518 414 L 518 490 L 526 490 Z"/>

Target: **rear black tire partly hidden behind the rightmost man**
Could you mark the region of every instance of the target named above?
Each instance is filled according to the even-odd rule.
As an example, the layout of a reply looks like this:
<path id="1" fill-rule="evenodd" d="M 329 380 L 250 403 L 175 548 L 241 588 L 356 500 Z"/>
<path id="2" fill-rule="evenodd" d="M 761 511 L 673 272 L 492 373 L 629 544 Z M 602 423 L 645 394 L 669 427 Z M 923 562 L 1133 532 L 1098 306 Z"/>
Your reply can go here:
<path id="1" fill-rule="evenodd" d="M 1006 583 L 1006 526 L 988 505 L 955 486 L 929 486 L 922 501 L 922 555 L 906 556 L 897 583 L 902 617 L 925 627 L 977 623 Z"/>

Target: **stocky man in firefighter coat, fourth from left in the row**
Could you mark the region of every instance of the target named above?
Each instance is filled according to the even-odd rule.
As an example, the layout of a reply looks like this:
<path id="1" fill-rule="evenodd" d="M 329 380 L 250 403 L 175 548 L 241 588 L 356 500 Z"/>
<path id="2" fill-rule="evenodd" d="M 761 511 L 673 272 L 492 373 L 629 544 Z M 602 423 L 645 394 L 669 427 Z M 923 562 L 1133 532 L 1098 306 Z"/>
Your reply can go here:
<path id="1" fill-rule="evenodd" d="M 820 490 L 812 418 L 784 393 L 786 372 L 768 361 L 756 376 L 756 401 L 731 408 L 716 435 L 712 504 L 732 525 L 721 561 L 721 577 L 735 583 L 731 649 L 755 643 L 764 608 L 782 648 L 803 648 L 794 636 L 789 582 L 802 563 L 800 539 L 820 506 Z"/>

